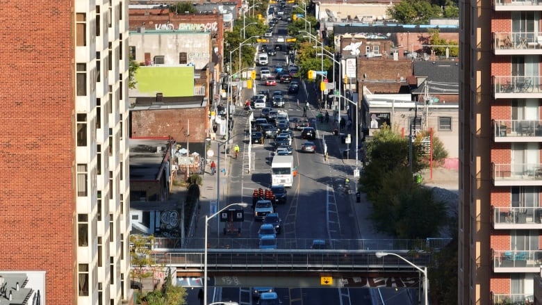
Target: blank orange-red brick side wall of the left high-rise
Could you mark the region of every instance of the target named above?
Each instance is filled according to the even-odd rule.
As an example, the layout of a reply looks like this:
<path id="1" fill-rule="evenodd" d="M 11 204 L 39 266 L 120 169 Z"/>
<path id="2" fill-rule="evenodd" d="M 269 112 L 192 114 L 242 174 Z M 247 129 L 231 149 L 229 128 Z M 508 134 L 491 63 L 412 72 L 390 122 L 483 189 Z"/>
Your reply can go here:
<path id="1" fill-rule="evenodd" d="M 0 14 L 0 270 L 45 271 L 42 302 L 74 304 L 74 4 L 21 4 Z"/>

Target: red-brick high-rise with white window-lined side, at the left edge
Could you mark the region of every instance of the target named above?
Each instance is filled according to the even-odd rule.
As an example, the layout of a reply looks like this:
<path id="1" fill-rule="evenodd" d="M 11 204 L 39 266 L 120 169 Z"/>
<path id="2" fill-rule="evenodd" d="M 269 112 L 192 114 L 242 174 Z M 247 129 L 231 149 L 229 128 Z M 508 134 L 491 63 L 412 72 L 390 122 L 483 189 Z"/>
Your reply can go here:
<path id="1" fill-rule="evenodd" d="M 14 300 L 131 303 L 127 5 L 2 3 L 0 284 Z"/>

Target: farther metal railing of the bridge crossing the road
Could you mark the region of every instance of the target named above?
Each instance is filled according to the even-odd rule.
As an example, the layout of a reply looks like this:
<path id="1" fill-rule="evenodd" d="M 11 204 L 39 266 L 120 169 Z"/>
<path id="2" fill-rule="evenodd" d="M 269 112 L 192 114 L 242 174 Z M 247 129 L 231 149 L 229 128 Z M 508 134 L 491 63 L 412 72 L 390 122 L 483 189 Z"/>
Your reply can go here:
<path id="1" fill-rule="evenodd" d="M 313 249 L 313 238 L 277 238 L 277 249 Z M 369 251 L 416 251 L 440 250 L 450 238 L 409 239 L 320 239 L 318 249 L 369 250 Z M 258 249 L 258 238 L 208 238 L 208 249 Z M 179 249 L 204 249 L 204 238 L 156 238 L 154 251 L 172 252 Z"/>

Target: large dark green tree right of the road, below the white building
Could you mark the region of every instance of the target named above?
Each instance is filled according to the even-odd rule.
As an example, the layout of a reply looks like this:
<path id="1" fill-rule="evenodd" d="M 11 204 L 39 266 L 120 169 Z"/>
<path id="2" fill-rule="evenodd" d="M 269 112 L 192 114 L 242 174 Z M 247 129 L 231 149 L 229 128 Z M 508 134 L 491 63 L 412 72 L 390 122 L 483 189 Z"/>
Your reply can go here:
<path id="1" fill-rule="evenodd" d="M 422 147 L 413 142 L 413 172 L 424 167 Z M 360 176 L 361 190 L 373 203 L 370 215 L 379 231 L 398 238 L 436 236 L 444 223 L 445 206 L 432 190 L 413 180 L 409 138 L 383 126 L 367 144 L 368 164 Z"/>

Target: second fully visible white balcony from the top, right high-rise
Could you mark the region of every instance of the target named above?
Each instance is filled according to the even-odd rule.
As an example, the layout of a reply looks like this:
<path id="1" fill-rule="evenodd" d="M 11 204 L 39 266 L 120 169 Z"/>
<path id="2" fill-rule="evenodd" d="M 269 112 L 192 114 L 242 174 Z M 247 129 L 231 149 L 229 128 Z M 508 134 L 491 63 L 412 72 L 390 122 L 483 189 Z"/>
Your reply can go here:
<path id="1" fill-rule="evenodd" d="M 541 77 L 494 75 L 493 95 L 495 99 L 540 99 Z"/>

